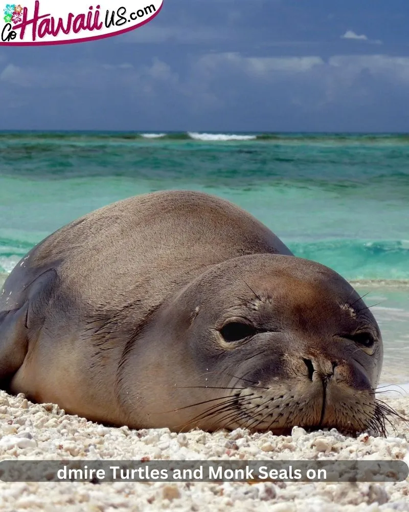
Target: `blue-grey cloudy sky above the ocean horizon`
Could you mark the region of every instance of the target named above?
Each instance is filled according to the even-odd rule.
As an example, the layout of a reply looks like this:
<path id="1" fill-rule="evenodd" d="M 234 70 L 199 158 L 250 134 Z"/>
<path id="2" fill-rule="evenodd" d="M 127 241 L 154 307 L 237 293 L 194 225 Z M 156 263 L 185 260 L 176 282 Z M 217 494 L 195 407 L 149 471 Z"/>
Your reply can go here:
<path id="1" fill-rule="evenodd" d="M 409 3 L 164 0 L 126 34 L 0 47 L 0 101 L 0 130 L 409 132 Z"/>

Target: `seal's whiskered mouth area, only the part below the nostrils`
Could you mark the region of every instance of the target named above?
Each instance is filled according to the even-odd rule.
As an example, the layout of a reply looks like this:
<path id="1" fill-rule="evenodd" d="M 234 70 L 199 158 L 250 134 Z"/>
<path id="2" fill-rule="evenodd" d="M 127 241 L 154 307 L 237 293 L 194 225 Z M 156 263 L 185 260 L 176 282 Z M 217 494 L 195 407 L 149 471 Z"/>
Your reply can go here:
<path id="1" fill-rule="evenodd" d="M 307 432 L 336 429 L 348 436 L 370 432 L 385 437 L 386 425 L 391 423 L 388 416 L 399 414 L 376 400 L 373 390 L 340 390 L 332 380 L 326 376 L 320 382 L 312 381 L 309 397 L 305 386 L 293 386 L 291 390 L 285 385 L 243 388 L 235 393 L 236 414 L 225 418 L 223 426 L 271 431 L 275 435 L 289 435 L 294 426 L 299 426 Z"/>

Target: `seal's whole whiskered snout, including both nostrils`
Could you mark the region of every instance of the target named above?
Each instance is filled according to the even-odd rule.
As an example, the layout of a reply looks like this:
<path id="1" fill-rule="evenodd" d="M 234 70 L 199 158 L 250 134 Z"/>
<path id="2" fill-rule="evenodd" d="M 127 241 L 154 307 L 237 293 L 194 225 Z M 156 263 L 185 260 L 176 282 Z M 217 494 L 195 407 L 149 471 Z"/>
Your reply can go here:
<path id="1" fill-rule="evenodd" d="M 204 386 L 207 399 L 182 408 L 192 411 L 194 407 L 196 412 L 186 417 L 184 430 L 242 428 L 289 435 L 298 426 L 307 432 L 336 429 L 348 436 L 366 432 L 386 437 L 387 424 L 396 430 L 390 416 L 405 420 L 376 398 L 357 366 L 300 356 L 291 362 L 292 367 L 276 365 L 282 369 L 280 374 L 271 372 L 270 361 L 254 372 L 239 369 L 242 376 L 230 374 L 228 383 Z"/>

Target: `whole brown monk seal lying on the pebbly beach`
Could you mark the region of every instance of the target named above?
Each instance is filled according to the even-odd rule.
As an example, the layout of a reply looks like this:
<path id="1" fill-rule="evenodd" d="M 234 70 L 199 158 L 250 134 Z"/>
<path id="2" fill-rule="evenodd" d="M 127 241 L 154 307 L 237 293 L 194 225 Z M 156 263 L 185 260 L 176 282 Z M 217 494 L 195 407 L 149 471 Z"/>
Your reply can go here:
<path id="1" fill-rule="evenodd" d="M 98 209 L 0 302 L 3 388 L 131 428 L 384 432 L 378 325 L 333 270 L 193 191 Z"/>

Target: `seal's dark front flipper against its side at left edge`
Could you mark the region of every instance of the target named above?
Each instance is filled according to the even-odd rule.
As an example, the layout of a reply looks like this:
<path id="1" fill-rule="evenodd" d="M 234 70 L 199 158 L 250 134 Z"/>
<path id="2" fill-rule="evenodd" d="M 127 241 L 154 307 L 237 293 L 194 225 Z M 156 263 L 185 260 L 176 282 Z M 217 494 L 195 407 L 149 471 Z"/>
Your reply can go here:
<path id="1" fill-rule="evenodd" d="M 57 279 L 54 268 L 42 272 L 27 287 L 15 291 L 18 297 L 14 297 L 14 309 L 0 311 L 0 388 L 20 368 L 29 340 L 35 339 L 41 329 Z M 8 280 L 4 284 L 6 293 L 7 285 Z"/>

